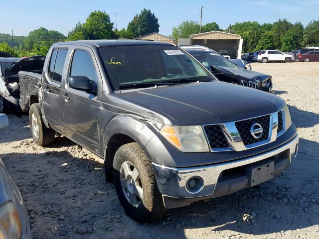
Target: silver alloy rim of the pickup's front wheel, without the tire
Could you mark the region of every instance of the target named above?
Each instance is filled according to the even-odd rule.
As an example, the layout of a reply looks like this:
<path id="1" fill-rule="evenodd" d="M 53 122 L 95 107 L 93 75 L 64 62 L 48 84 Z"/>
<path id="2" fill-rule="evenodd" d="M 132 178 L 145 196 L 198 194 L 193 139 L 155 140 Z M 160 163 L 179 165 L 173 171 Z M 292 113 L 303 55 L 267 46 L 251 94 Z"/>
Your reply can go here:
<path id="1" fill-rule="evenodd" d="M 139 172 L 131 162 L 122 163 L 120 180 L 125 198 L 132 206 L 139 207 L 143 201 L 143 187 Z"/>

